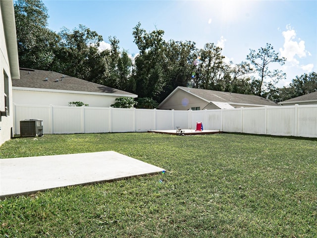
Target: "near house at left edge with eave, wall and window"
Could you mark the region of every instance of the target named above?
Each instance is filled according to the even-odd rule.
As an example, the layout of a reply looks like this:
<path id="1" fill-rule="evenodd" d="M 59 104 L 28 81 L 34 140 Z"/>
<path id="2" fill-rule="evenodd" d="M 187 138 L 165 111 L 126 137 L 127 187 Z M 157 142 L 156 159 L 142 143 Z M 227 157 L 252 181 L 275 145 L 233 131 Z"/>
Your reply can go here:
<path id="1" fill-rule="evenodd" d="M 12 79 L 19 78 L 12 0 L 0 0 L 0 145 L 13 135 Z"/>

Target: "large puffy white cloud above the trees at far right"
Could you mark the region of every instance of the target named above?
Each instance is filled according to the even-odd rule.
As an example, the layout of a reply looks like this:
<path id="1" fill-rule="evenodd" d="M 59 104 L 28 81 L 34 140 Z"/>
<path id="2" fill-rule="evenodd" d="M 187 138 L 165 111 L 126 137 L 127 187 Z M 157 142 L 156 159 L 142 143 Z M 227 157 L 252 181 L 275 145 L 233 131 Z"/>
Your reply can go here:
<path id="1" fill-rule="evenodd" d="M 296 40 L 296 31 L 290 25 L 286 26 L 286 31 L 283 31 L 282 35 L 284 37 L 284 45 L 279 51 L 281 57 L 285 57 L 287 60 L 284 68 L 295 66 L 305 71 L 312 70 L 314 64 L 302 65 L 300 63 L 300 59 L 307 57 L 307 55 L 311 56 L 311 53 L 305 49 L 305 41 L 300 38 Z"/>

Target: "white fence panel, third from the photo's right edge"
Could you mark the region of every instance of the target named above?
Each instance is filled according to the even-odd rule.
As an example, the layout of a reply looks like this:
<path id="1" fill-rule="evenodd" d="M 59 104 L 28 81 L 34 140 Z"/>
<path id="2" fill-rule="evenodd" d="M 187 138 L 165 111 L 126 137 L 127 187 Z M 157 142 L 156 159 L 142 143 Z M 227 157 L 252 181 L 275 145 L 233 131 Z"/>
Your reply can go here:
<path id="1" fill-rule="evenodd" d="M 243 109 L 243 133 L 265 134 L 265 108 Z"/>

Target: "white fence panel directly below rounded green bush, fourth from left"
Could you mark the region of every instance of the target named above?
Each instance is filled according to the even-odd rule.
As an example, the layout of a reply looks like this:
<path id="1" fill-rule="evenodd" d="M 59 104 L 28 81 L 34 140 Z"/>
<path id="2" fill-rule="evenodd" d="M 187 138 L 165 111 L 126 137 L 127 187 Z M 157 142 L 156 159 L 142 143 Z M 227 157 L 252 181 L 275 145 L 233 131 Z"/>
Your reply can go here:
<path id="1" fill-rule="evenodd" d="M 134 108 L 111 108 L 111 132 L 134 132 L 135 109 Z"/>

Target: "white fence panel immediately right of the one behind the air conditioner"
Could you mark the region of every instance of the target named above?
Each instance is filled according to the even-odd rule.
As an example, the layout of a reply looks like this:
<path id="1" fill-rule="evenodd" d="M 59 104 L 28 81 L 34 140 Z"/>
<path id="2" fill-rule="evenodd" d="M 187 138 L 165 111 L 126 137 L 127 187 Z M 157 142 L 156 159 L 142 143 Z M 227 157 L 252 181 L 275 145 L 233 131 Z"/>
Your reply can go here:
<path id="1" fill-rule="evenodd" d="M 53 134 L 84 133 L 82 107 L 53 106 Z"/>

